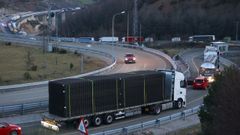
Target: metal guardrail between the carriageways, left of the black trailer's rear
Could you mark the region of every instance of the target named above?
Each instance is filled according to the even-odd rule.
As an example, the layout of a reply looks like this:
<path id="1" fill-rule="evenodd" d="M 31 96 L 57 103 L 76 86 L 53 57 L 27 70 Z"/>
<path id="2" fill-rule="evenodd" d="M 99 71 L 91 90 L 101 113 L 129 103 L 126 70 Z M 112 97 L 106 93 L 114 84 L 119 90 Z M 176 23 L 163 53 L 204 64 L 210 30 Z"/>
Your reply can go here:
<path id="1" fill-rule="evenodd" d="M 0 106 L 0 118 L 12 115 L 24 115 L 32 112 L 43 112 L 47 111 L 48 100 L 16 104 L 16 105 L 4 105 Z"/>

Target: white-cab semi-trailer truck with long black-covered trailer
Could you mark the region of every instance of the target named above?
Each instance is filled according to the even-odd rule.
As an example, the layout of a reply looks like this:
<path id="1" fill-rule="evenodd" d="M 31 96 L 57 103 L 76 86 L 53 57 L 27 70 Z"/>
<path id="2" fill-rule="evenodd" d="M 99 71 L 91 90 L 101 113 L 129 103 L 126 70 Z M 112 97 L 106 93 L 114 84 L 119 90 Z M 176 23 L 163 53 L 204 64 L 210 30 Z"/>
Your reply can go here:
<path id="1" fill-rule="evenodd" d="M 84 119 L 86 127 L 142 113 L 186 106 L 184 75 L 172 70 L 136 71 L 49 82 L 49 112 L 41 124 L 59 131 Z"/>

